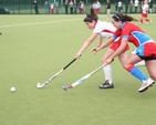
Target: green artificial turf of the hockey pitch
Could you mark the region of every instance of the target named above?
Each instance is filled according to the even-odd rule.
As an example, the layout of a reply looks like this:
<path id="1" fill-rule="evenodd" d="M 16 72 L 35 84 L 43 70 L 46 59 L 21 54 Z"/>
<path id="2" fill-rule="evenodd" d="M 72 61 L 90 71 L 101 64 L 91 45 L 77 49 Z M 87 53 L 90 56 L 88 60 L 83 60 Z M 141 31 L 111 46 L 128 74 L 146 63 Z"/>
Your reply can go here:
<path id="1" fill-rule="evenodd" d="M 139 19 L 139 14 L 134 14 Z M 71 91 L 62 85 L 101 66 L 105 50 L 91 49 L 45 87 L 37 88 L 70 61 L 91 35 L 85 15 L 0 15 L 0 125 L 155 125 L 156 86 L 138 93 L 141 82 L 112 63 L 115 88 L 100 90 L 103 71 Z M 156 17 L 142 27 L 156 41 Z M 101 20 L 106 15 L 101 14 Z M 135 48 L 131 45 L 131 50 Z M 145 67 L 139 67 L 147 74 Z M 148 75 L 148 74 L 147 74 Z M 17 91 L 10 92 L 14 86 Z"/>

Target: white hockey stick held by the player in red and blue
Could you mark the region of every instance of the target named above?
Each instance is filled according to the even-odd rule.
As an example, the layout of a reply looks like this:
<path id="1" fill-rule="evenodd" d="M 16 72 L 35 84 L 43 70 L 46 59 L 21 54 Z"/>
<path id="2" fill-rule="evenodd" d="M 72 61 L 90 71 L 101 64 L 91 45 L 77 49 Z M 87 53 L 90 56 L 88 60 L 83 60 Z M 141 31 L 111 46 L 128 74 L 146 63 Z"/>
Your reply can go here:
<path id="1" fill-rule="evenodd" d="M 86 74 L 85 76 L 83 76 L 82 79 L 77 80 L 76 82 L 72 83 L 70 86 L 66 86 L 66 84 L 63 84 L 63 90 L 64 91 L 69 91 L 73 87 L 75 87 L 76 85 L 79 85 L 80 83 L 84 82 L 86 79 L 89 79 L 90 76 L 92 76 L 94 73 L 96 73 L 97 71 L 100 71 L 102 67 L 104 67 L 106 64 L 103 64 L 102 66 L 97 67 L 96 70 L 94 70 L 93 72 Z"/>

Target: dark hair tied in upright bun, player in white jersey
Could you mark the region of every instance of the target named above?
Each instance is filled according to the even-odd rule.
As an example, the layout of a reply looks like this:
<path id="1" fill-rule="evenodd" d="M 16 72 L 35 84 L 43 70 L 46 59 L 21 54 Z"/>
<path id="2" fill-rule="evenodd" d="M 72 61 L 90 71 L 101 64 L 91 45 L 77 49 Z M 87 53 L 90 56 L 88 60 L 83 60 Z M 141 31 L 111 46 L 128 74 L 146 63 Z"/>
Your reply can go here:
<path id="1" fill-rule="evenodd" d="M 91 13 L 90 14 L 86 14 L 86 17 L 84 18 L 84 22 L 92 22 L 92 21 L 97 21 L 98 20 L 98 17 L 96 15 L 96 13 L 94 12 L 94 9 L 91 8 Z"/>

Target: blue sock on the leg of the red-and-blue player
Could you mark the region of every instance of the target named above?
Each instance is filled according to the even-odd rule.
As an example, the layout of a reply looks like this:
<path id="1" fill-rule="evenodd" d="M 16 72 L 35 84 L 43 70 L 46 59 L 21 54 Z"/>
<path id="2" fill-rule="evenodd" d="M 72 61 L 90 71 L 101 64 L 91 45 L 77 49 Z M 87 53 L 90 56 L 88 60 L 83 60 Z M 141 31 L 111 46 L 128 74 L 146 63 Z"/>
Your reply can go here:
<path id="1" fill-rule="evenodd" d="M 135 77 L 139 79 L 141 81 L 146 81 L 148 77 L 144 75 L 137 67 L 133 67 L 131 70 L 131 74 L 134 75 Z"/>

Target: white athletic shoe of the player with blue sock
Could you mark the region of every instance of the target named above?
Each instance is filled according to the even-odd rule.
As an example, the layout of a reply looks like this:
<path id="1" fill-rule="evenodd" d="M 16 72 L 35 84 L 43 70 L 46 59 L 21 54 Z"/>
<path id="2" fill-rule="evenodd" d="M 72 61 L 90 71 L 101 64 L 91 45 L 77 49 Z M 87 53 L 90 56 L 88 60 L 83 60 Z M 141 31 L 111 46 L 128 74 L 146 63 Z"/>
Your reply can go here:
<path id="1" fill-rule="evenodd" d="M 142 82 L 142 86 L 139 87 L 138 92 L 145 92 L 149 86 L 153 86 L 155 82 L 152 79 Z"/>

